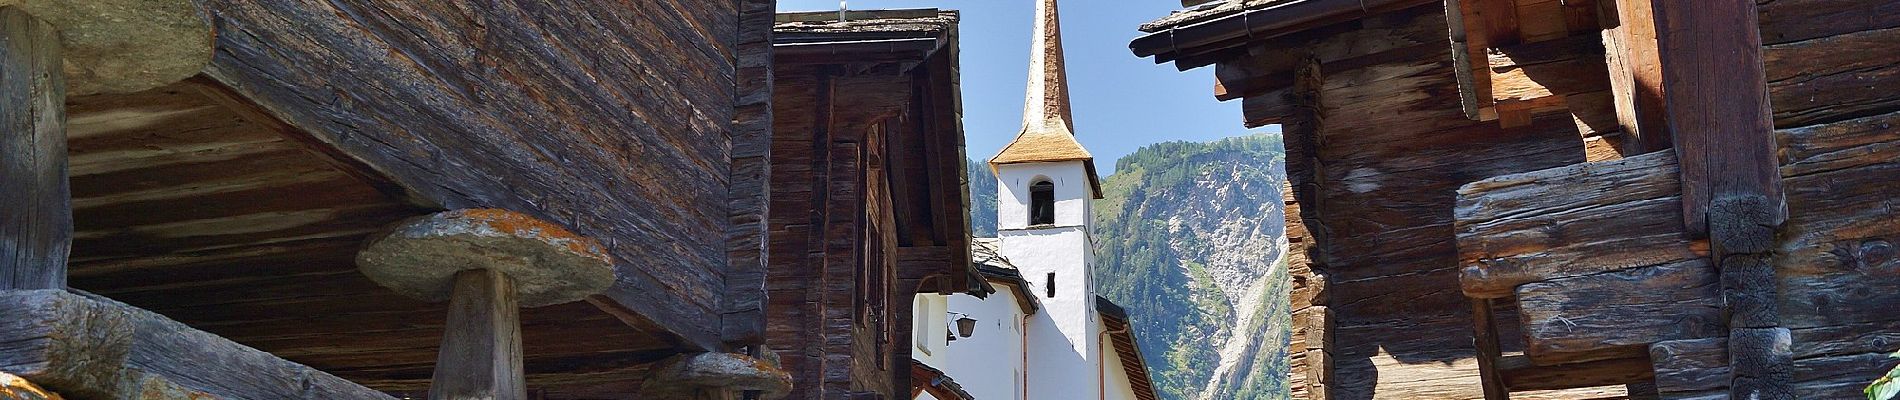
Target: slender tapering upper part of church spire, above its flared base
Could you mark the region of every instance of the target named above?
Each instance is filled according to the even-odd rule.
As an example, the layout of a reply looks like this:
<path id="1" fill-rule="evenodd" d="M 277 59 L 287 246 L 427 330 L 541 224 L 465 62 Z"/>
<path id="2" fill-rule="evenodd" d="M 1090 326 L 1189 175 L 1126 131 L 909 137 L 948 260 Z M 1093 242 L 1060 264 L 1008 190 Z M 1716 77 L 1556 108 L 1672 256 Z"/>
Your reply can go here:
<path id="1" fill-rule="evenodd" d="M 1030 91 L 1022 104 L 1022 131 L 1075 135 L 1070 112 L 1068 72 L 1062 59 L 1062 17 L 1056 0 L 1036 0 L 1036 42 L 1030 44 Z"/>

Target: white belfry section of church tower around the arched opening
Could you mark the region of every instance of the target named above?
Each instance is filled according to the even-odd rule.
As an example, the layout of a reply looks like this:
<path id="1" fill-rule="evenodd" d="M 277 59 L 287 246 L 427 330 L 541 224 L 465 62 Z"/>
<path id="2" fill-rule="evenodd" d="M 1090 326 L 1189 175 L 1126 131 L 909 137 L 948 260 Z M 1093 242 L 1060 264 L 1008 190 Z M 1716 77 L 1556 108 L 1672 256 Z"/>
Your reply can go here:
<path id="1" fill-rule="evenodd" d="M 1011 163 L 996 169 L 996 229 L 1030 226 L 1030 184 L 1037 178 L 1056 184 L 1054 226 L 1089 224 L 1089 199 L 1094 199 L 1094 190 L 1081 161 Z"/>

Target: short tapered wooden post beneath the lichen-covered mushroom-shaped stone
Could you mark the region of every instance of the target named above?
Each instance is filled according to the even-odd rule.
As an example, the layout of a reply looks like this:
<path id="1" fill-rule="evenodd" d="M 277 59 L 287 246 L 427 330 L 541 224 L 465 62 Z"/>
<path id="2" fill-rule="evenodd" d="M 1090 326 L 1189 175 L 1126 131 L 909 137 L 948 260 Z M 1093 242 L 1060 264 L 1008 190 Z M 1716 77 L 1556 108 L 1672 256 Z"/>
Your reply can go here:
<path id="1" fill-rule="evenodd" d="M 494 269 L 456 273 L 429 400 L 524 400 L 521 303 L 515 279 Z"/>

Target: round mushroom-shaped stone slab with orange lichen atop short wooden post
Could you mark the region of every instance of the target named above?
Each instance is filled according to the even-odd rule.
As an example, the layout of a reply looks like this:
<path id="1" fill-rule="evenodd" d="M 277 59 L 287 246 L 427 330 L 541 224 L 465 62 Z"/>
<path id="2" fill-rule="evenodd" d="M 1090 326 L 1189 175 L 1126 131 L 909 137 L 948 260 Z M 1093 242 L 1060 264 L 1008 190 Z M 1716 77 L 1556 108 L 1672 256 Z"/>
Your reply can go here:
<path id="1" fill-rule="evenodd" d="M 357 267 L 378 284 L 426 301 L 448 300 L 454 277 L 494 269 L 515 279 L 522 307 L 578 301 L 614 286 L 614 258 L 598 241 L 511 210 L 450 210 L 405 220 L 370 239 Z"/>

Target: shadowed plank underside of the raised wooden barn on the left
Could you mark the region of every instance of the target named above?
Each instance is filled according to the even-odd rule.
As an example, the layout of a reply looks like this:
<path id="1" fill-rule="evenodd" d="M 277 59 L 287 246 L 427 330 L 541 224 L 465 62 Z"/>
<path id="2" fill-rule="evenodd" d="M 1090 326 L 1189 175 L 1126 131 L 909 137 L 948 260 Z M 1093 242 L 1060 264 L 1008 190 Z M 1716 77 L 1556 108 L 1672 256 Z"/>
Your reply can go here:
<path id="1" fill-rule="evenodd" d="M 428 389 L 445 307 L 353 258 L 431 209 L 209 80 L 68 114 L 74 288 L 374 389 Z M 633 387 L 674 349 L 585 301 L 522 311 L 522 334 L 530 387 L 551 392 Z"/>

